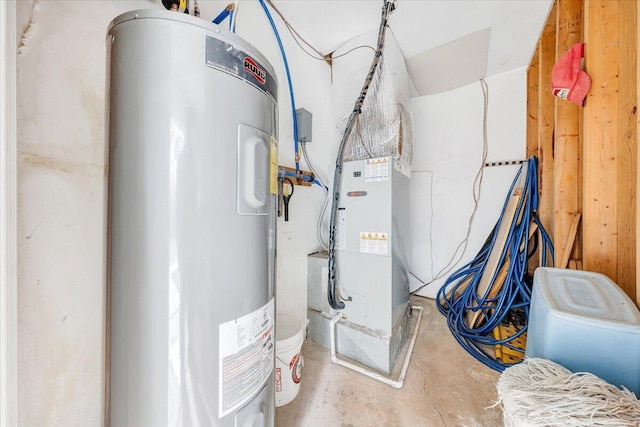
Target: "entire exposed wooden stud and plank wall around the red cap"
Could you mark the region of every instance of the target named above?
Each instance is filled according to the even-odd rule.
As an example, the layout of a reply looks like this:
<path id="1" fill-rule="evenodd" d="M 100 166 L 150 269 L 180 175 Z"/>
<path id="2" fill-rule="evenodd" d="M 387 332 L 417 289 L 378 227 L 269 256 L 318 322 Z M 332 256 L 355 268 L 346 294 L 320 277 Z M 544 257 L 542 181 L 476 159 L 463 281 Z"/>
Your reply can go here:
<path id="1" fill-rule="evenodd" d="M 640 306 L 638 16 L 636 1 L 556 0 L 527 73 L 527 153 L 540 160 L 539 214 L 555 265 L 572 259 L 604 273 Z M 584 106 L 549 86 L 557 59 L 580 41 L 592 81 Z"/>

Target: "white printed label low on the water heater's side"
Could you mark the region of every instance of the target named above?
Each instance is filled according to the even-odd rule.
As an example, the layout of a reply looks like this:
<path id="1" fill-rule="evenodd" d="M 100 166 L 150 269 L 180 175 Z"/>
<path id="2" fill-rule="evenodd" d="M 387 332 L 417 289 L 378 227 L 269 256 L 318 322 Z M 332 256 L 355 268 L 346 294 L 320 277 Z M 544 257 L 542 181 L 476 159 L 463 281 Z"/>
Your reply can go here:
<path id="1" fill-rule="evenodd" d="M 218 417 L 248 402 L 271 376 L 274 365 L 273 299 L 220 325 Z"/>

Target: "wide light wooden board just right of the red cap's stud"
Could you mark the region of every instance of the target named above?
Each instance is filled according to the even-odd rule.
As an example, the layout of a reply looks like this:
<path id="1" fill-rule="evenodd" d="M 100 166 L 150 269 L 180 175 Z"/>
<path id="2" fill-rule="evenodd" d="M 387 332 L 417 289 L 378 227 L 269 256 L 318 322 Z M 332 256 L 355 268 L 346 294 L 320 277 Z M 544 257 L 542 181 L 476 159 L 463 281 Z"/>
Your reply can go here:
<path id="1" fill-rule="evenodd" d="M 585 1 L 585 59 L 591 90 L 584 109 L 585 270 L 618 280 L 618 0 Z"/>

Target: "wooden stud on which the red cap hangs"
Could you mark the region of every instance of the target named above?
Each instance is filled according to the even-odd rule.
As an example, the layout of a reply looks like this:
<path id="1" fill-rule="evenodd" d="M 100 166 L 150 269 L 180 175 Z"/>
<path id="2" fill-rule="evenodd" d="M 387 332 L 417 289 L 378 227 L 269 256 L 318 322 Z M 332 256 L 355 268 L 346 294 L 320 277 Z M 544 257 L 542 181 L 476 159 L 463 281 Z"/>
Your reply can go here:
<path id="1" fill-rule="evenodd" d="M 582 41 L 582 0 L 556 2 L 556 61 L 571 46 Z M 565 268 L 573 240 L 567 241 L 573 218 L 580 207 L 580 106 L 557 99 L 555 103 L 554 221 L 553 242 L 556 267 Z M 565 247 L 569 246 L 569 247 Z"/>

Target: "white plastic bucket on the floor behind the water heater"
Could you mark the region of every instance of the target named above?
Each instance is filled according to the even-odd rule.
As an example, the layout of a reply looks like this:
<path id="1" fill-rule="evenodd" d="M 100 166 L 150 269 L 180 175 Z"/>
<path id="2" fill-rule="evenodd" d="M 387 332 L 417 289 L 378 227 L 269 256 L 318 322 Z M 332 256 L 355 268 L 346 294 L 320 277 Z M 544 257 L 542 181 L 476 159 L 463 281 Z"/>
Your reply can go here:
<path id="1" fill-rule="evenodd" d="M 289 314 L 276 316 L 276 406 L 291 402 L 300 391 L 302 322 Z"/>

